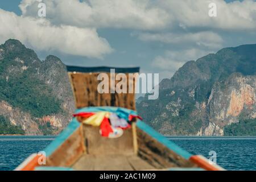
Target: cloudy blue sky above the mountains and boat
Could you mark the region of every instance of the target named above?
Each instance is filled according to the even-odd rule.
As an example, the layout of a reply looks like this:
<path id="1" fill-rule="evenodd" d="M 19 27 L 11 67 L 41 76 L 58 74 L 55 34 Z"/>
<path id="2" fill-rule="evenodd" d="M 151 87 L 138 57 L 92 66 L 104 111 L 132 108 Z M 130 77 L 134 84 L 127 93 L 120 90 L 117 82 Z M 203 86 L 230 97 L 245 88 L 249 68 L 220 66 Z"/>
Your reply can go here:
<path id="1" fill-rule="evenodd" d="M 208 15 L 210 3 L 216 17 Z M 1 0 L 0 25 L 0 44 L 18 39 L 41 60 L 55 55 L 68 65 L 141 67 L 163 79 L 189 60 L 256 44 L 256 2 Z"/>

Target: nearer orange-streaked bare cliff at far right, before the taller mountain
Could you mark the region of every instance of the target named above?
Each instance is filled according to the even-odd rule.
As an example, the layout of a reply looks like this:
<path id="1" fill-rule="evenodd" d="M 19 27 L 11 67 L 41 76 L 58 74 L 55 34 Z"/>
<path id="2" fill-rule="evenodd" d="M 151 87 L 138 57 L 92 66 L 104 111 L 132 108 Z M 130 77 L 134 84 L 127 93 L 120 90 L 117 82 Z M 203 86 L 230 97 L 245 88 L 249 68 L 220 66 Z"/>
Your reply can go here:
<path id="1" fill-rule="evenodd" d="M 208 100 L 209 126 L 205 135 L 223 135 L 224 127 L 240 122 L 240 118 L 254 119 L 256 76 L 233 74 L 224 82 L 214 84 Z"/>

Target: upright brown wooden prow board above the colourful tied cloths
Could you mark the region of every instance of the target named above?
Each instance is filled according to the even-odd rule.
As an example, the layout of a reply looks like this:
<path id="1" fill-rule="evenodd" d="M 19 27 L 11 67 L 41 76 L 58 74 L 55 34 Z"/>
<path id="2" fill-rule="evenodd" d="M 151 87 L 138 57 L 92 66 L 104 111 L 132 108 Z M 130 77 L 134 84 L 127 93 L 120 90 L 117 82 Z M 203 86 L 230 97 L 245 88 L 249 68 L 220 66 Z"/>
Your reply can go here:
<path id="1" fill-rule="evenodd" d="M 76 101 L 76 107 L 88 107 L 88 106 L 118 106 L 125 107 L 127 109 L 135 110 L 135 82 L 136 77 L 133 79 L 133 93 L 111 93 L 110 86 L 108 88 L 109 93 L 98 93 L 98 84 L 101 80 L 97 80 L 97 76 L 100 73 L 69 73 L 69 78 L 71 79 L 71 85 L 73 94 Z M 110 85 L 110 73 L 106 73 L 109 76 Z M 126 73 L 127 78 L 129 78 L 129 73 Z M 125 80 L 127 82 L 127 92 L 129 92 L 129 79 Z M 115 80 L 115 85 L 119 81 Z"/>

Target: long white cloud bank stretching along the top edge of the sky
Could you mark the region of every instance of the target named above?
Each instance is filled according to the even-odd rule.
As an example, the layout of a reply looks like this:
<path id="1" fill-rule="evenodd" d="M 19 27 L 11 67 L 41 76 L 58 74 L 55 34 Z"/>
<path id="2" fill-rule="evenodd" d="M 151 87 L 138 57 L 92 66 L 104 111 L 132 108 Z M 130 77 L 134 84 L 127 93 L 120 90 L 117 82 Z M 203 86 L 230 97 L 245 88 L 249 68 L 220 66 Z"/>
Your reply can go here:
<path id="1" fill-rule="evenodd" d="M 44 0 L 47 18 L 55 24 L 78 27 L 115 27 L 137 30 L 166 28 L 217 28 L 255 30 L 256 2 L 226 3 L 224 0 Z M 217 17 L 208 15 L 209 3 L 216 3 Z M 38 2 L 23 0 L 23 15 L 37 16 Z"/>

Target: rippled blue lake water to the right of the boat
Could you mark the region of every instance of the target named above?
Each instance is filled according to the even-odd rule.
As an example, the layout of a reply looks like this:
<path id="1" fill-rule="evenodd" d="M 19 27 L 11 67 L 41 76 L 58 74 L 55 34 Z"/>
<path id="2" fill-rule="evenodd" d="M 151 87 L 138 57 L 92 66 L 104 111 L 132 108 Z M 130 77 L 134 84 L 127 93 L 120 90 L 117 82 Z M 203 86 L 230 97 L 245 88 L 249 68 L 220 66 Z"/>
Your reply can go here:
<path id="1" fill-rule="evenodd" d="M 191 154 L 217 153 L 217 164 L 228 170 L 256 170 L 256 137 L 168 137 Z"/>

